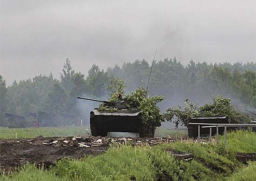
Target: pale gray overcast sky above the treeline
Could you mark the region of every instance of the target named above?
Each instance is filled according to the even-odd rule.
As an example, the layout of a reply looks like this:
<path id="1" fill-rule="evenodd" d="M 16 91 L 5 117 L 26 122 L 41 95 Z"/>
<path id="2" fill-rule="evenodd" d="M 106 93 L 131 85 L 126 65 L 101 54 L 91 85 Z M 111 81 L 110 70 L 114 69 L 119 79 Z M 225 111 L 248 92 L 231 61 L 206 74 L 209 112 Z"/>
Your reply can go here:
<path id="1" fill-rule="evenodd" d="M 1 1 L 0 74 L 87 74 L 135 59 L 256 61 L 256 1 Z"/>

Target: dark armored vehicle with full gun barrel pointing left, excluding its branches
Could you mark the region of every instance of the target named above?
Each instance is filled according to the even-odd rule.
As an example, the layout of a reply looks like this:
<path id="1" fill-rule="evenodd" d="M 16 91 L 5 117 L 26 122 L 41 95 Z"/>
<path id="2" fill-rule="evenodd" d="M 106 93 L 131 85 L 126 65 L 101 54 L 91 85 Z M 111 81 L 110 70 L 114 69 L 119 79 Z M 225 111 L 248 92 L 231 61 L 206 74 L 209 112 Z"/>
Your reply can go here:
<path id="1" fill-rule="evenodd" d="M 141 110 L 125 100 L 101 101 L 78 97 L 78 99 L 102 102 L 103 105 L 90 112 L 90 128 L 93 136 L 105 137 L 108 132 L 133 132 L 139 137 L 153 137 L 155 128 L 143 124 Z"/>

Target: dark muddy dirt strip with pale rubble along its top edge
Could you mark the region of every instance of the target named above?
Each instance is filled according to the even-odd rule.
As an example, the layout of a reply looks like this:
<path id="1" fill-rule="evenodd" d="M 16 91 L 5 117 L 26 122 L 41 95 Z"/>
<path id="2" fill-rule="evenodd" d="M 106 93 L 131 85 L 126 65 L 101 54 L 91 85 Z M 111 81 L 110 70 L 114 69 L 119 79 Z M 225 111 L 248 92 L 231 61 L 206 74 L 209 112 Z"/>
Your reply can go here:
<path id="1" fill-rule="evenodd" d="M 79 159 L 84 155 L 105 153 L 110 144 L 130 142 L 132 145 L 155 145 L 173 142 L 168 138 L 111 138 L 111 137 L 65 137 L 0 140 L 0 169 L 4 172 L 18 171 L 21 165 L 30 162 L 50 165 L 62 158 Z"/>

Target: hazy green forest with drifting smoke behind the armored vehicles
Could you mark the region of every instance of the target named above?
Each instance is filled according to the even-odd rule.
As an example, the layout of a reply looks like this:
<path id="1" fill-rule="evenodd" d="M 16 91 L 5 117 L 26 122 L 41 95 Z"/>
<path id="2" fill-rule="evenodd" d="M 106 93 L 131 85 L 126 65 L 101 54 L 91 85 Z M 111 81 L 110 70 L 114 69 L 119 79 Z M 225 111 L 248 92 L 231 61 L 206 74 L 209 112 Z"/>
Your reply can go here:
<path id="1" fill-rule="evenodd" d="M 107 100 L 110 94 L 107 87 L 117 77 L 124 80 L 125 94 L 129 94 L 138 86 L 147 86 L 151 68 L 149 95 L 164 96 L 159 105 L 162 111 L 187 98 L 202 105 L 217 95 L 232 99 L 232 104 L 241 111 L 256 108 L 256 64 L 253 62 L 208 64 L 191 60 L 182 65 L 175 57 L 152 63 L 143 59 L 106 70 L 93 64 L 85 76 L 76 72 L 66 59 L 59 78 L 51 73 L 40 74 L 7 86 L 0 75 L 0 126 L 32 127 L 38 115 L 44 120 L 39 126 L 78 126 L 81 119 L 88 125 L 90 110 L 98 107 L 98 103 L 77 97 Z"/>

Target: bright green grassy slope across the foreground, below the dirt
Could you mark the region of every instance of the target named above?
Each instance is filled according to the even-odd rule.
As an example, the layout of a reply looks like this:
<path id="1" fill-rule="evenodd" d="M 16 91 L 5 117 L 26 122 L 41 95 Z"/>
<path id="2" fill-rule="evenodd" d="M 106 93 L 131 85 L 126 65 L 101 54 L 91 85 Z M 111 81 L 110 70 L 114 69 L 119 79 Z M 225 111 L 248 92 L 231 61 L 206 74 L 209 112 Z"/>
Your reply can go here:
<path id="1" fill-rule="evenodd" d="M 63 159 L 50 170 L 27 164 L 19 173 L 2 175 L 1 180 L 256 180 L 255 162 L 238 162 L 236 152 L 256 153 L 256 134 L 227 133 L 227 147 L 187 140 L 158 146 L 115 145 L 105 154 L 80 160 Z M 178 161 L 169 152 L 192 153 L 190 162 Z"/>

